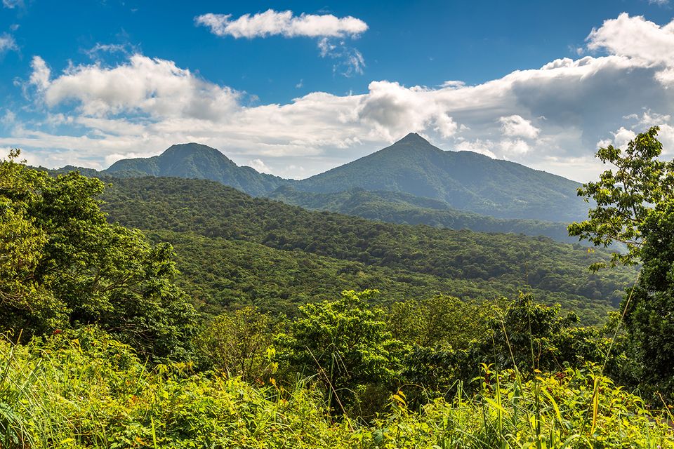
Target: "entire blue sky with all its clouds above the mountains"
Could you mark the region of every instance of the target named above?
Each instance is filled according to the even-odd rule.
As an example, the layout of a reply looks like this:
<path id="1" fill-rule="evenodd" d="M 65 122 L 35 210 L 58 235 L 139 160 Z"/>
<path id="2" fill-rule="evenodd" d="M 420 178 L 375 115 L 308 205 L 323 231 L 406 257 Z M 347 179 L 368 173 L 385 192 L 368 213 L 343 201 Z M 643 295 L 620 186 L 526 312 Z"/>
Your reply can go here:
<path id="1" fill-rule="evenodd" d="M 416 132 L 585 182 L 656 125 L 674 157 L 674 0 L 0 1 L 0 156 L 34 165 L 303 178 Z"/>

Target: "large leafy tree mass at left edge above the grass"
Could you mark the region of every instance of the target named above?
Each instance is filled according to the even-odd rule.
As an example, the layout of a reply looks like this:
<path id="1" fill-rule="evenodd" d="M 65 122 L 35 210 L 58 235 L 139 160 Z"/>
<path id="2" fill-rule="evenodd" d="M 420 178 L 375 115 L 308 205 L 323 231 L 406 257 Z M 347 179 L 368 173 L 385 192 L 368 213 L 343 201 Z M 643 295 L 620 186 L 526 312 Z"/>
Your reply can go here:
<path id="1" fill-rule="evenodd" d="M 167 244 L 107 222 L 103 182 L 0 163 L 0 323 L 26 337 L 97 324 L 156 358 L 185 357 L 196 313 Z"/>

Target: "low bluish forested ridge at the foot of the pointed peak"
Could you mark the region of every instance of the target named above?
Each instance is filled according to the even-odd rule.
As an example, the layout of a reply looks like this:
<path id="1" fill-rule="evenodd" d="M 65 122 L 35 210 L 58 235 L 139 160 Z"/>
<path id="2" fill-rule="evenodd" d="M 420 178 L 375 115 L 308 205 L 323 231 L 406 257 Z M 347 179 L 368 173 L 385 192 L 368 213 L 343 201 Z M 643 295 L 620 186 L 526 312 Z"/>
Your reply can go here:
<path id="1" fill-rule="evenodd" d="M 355 188 L 343 192 L 312 193 L 300 192 L 291 186 L 282 186 L 267 197 L 305 209 L 329 210 L 383 222 L 470 229 L 476 232 L 512 232 L 528 236 L 548 236 L 556 241 L 569 243 L 578 241 L 576 237 L 569 237 L 567 225 L 564 223 L 494 218 L 457 210 L 445 201 L 402 192 Z"/>

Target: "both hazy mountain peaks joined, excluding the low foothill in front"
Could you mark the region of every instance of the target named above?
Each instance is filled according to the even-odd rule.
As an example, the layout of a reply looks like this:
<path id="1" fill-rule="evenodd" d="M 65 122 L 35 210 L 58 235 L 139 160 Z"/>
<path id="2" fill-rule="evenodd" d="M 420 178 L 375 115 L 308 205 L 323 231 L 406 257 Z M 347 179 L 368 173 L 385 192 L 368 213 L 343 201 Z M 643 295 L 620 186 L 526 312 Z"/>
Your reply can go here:
<path id="1" fill-rule="evenodd" d="M 578 182 L 475 152 L 440 149 L 416 133 L 304 180 L 237 166 L 220 150 L 194 142 L 172 145 L 150 158 L 122 159 L 98 174 L 214 180 L 253 196 L 270 196 L 279 187 L 316 194 L 352 189 L 397 192 L 416 196 L 414 203 L 437 200 L 456 210 L 499 219 L 571 222 L 583 220 L 588 211 L 587 203 L 576 196 Z"/>

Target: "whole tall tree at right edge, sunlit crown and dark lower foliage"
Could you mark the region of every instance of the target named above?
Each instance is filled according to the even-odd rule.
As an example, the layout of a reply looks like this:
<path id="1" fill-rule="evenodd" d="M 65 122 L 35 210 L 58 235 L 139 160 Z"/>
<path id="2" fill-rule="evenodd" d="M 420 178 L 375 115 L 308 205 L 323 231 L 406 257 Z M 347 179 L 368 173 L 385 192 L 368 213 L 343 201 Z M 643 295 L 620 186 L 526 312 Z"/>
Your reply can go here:
<path id="1" fill-rule="evenodd" d="M 674 161 L 659 159 L 658 130 L 637 135 L 624 156 L 612 146 L 597 152 L 616 171 L 579 189 L 597 207 L 588 220 L 570 225 L 569 234 L 597 246 L 625 243 L 627 252 L 615 253 L 612 264 L 642 264 L 622 304 L 633 379 L 642 389 L 674 398 Z"/>

